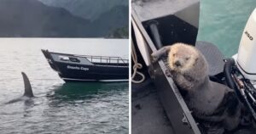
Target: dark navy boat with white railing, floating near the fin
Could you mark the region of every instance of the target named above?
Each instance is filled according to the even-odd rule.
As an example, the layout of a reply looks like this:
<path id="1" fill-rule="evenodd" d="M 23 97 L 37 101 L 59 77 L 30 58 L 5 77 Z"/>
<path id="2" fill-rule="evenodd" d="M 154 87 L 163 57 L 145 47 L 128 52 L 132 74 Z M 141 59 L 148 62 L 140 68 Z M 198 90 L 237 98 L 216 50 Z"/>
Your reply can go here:
<path id="1" fill-rule="evenodd" d="M 129 81 L 127 59 L 42 52 L 50 67 L 64 81 Z M 98 62 L 91 62 L 93 59 Z M 111 62 L 113 60 L 116 63 Z"/>

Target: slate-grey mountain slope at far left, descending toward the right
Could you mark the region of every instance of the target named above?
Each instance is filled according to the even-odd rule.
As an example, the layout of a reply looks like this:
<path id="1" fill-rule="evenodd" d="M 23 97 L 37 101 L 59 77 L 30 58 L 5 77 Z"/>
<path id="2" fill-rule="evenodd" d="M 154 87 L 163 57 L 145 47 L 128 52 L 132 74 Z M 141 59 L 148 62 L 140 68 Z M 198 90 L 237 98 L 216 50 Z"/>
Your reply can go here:
<path id="1" fill-rule="evenodd" d="M 54 8 L 37 0 L 1 0 L 0 36 L 4 37 L 83 37 L 90 21 L 73 16 L 64 8 Z"/>

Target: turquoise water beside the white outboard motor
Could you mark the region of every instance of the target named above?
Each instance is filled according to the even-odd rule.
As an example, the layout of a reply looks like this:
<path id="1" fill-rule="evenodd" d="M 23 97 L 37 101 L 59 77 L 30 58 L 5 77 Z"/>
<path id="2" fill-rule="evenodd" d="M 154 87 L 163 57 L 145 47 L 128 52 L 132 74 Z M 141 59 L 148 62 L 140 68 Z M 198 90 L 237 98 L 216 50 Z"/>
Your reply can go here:
<path id="1" fill-rule="evenodd" d="M 201 0 L 200 25 L 197 40 L 215 44 L 224 56 L 237 53 L 242 31 L 255 0 Z"/>

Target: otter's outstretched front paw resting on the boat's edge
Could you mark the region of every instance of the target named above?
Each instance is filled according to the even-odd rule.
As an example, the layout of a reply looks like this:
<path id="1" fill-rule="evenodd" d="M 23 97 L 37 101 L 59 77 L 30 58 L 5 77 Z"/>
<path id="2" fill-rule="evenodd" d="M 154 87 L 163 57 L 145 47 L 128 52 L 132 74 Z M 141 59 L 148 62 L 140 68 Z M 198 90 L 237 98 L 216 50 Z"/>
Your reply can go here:
<path id="1" fill-rule="evenodd" d="M 171 46 L 161 47 L 159 50 L 154 51 L 151 56 L 153 59 L 153 63 L 157 62 L 162 56 L 165 56 L 171 50 Z"/>

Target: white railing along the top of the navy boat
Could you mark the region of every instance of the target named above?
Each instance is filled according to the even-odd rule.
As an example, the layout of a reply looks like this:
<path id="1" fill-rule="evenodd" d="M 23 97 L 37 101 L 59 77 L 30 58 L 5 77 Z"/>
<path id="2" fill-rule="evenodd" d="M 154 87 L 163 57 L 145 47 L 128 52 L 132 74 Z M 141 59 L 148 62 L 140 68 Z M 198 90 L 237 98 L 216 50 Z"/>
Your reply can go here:
<path id="1" fill-rule="evenodd" d="M 81 57 L 79 55 L 79 57 Z M 82 57 L 88 59 L 92 63 L 105 63 L 105 64 L 128 64 L 128 59 L 122 59 L 120 57 L 110 57 L 110 56 L 92 56 L 83 55 Z"/>

